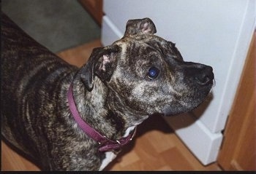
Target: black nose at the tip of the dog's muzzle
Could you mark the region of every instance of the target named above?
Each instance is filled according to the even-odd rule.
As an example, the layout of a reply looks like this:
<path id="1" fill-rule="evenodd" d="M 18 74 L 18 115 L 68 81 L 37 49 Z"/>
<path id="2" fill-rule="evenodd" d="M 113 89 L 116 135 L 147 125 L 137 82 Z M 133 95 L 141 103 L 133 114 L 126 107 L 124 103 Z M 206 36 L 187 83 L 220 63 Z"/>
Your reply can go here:
<path id="1" fill-rule="evenodd" d="M 200 68 L 200 71 L 195 74 L 195 81 L 200 85 L 211 84 L 213 79 L 214 73 L 211 66 L 203 66 Z"/>

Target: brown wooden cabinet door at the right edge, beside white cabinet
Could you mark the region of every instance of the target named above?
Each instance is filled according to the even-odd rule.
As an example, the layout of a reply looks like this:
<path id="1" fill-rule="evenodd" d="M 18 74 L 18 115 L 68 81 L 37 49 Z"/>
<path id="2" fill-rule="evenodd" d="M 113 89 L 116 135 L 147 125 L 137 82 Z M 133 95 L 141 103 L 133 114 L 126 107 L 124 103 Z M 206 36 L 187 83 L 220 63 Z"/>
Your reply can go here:
<path id="1" fill-rule="evenodd" d="M 219 152 L 218 162 L 225 170 L 256 170 L 255 36 L 256 32 Z"/>

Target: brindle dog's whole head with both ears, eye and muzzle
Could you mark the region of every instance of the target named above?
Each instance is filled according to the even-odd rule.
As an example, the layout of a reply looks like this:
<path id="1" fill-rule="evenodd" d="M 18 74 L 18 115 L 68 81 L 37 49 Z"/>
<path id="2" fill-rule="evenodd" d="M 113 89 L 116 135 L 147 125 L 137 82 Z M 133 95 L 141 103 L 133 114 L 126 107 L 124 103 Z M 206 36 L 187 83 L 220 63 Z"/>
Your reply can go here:
<path id="1" fill-rule="evenodd" d="M 122 39 L 92 52 L 83 67 L 86 88 L 93 89 L 97 76 L 124 106 L 146 115 L 197 107 L 213 85 L 211 66 L 185 62 L 175 44 L 156 32 L 148 18 L 129 20 Z"/>

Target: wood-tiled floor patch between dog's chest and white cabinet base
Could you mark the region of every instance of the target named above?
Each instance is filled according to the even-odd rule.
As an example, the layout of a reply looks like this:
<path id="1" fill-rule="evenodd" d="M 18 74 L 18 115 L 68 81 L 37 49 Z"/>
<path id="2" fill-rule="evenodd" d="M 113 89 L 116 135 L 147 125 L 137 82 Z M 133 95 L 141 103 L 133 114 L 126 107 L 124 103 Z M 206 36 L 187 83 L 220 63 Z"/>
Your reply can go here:
<path id="1" fill-rule="evenodd" d="M 106 170 L 220 169 L 215 163 L 201 165 L 161 116 L 151 116 L 138 126 L 135 141 Z"/>

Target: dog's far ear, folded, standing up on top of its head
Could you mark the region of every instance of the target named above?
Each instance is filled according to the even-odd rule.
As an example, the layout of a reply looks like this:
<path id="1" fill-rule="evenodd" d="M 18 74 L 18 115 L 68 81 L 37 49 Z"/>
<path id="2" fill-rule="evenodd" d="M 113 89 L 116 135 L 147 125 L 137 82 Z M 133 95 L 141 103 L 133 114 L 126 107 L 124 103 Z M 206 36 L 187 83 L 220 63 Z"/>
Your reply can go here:
<path id="1" fill-rule="evenodd" d="M 124 36 L 138 33 L 157 33 L 157 28 L 149 18 L 128 20 Z"/>

